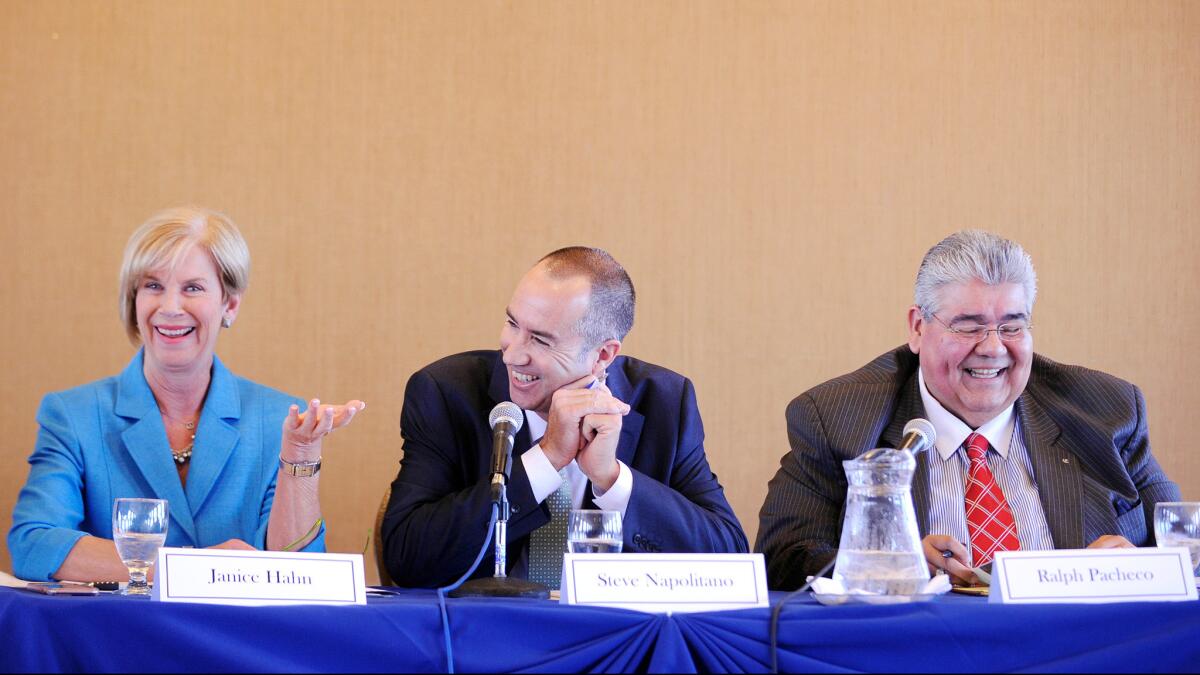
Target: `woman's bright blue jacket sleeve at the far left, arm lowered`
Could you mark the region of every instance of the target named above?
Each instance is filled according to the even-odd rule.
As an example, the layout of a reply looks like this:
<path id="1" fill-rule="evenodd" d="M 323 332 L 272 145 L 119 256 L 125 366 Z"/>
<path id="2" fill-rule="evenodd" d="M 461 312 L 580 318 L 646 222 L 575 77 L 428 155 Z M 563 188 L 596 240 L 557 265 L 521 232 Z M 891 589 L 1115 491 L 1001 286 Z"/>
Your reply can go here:
<path id="1" fill-rule="evenodd" d="M 76 542 L 86 536 L 79 530 L 84 521 L 84 462 L 78 436 L 56 394 L 42 399 L 37 424 L 29 479 L 12 513 L 8 551 L 17 577 L 48 581 Z"/>

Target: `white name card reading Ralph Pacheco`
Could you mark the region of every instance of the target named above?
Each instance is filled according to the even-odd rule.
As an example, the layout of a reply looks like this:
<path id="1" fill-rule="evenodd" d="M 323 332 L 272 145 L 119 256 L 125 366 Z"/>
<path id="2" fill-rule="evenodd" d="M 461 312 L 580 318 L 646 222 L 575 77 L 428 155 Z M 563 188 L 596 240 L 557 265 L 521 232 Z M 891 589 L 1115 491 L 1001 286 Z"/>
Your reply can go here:
<path id="1" fill-rule="evenodd" d="M 990 602 L 1111 603 L 1196 599 L 1184 548 L 1004 551 Z"/>

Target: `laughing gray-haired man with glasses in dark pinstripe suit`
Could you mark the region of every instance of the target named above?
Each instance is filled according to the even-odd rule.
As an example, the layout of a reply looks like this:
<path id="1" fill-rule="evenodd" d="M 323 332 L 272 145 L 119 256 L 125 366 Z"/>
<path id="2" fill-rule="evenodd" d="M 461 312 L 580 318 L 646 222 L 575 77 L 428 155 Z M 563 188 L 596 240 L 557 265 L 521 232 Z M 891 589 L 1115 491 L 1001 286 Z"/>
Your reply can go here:
<path id="1" fill-rule="evenodd" d="M 1151 454 L 1146 404 L 1133 384 L 1033 353 L 1037 276 L 1015 241 L 964 231 L 930 249 L 908 309 L 908 344 L 797 396 L 791 452 L 770 480 L 755 549 L 772 589 L 796 589 L 838 554 L 841 462 L 896 447 L 925 417 L 912 492 L 925 558 L 973 583 L 965 515 L 965 440 L 984 436 L 1021 549 L 1153 544 L 1159 501 L 1180 489 Z M 953 557 L 943 557 L 943 551 Z"/>

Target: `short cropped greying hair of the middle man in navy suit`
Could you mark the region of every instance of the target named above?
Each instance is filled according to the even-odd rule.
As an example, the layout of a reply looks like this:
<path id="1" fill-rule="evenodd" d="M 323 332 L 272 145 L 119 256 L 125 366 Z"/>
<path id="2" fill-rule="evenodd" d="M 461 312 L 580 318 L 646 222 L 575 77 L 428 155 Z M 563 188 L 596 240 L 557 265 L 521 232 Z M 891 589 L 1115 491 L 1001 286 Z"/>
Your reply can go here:
<path id="1" fill-rule="evenodd" d="M 625 268 L 604 249 L 568 246 L 546 253 L 538 264 L 552 277 L 583 276 L 592 286 L 588 311 L 576 325 L 586 348 L 606 340 L 624 340 L 634 328 L 637 303 L 634 282 Z"/>

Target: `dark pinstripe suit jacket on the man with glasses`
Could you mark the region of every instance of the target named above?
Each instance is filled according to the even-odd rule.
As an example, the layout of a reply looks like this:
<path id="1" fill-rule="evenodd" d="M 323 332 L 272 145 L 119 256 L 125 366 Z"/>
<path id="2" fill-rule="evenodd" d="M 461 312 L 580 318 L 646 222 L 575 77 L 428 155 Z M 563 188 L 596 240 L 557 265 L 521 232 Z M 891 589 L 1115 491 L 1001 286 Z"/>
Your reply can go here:
<path id="1" fill-rule="evenodd" d="M 772 589 L 799 587 L 836 556 L 846 502 L 841 462 L 896 447 L 905 423 L 925 414 L 918 365 L 902 346 L 787 406 L 792 449 L 768 486 L 755 543 L 767 556 Z M 1153 544 L 1154 504 L 1178 500 L 1180 489 L 1151 454 L 1146 401 L 1136 387 L 1034 354 L 1016 414 L 1055 546 L 1082 548 L 1102 534 Z M 925 458 L 917 462 L 912 492 L 924 537 Z"/>

